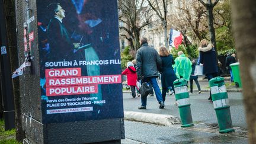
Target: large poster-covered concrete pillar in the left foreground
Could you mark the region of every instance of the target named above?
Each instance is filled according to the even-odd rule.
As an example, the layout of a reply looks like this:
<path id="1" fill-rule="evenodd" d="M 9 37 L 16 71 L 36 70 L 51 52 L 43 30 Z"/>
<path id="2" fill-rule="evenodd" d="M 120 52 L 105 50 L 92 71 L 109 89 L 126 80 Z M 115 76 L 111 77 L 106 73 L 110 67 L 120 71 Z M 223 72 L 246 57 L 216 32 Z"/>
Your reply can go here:
<path id="1" fill-rule="evenodd" d="M 124 139 L 117 1 L 16 1 L 24 143 Z"/>

